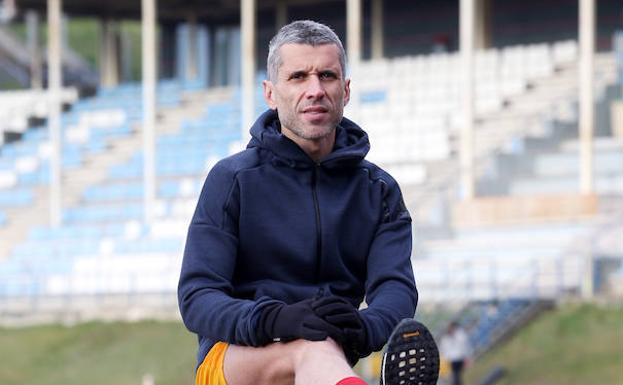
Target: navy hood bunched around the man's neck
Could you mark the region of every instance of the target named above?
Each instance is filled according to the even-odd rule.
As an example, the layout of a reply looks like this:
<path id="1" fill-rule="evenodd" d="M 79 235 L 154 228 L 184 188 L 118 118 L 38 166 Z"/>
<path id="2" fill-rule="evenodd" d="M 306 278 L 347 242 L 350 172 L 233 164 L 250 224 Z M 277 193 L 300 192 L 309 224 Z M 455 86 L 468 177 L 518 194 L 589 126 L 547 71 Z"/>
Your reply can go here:
<path id="1" fill-rule="evenodd" d="M 251 126 L 247 148 L 259 147 L 271 152 L 275 160 L 291 167 L 316 165 L 305 151 L 281 133 L 281 123 L 275 110 L 267 110 Z M 370 151 L 368 134 L 349 119 L 342 118 L 335 133 L 333 151 L 319 164 L 326 168 L 348 167 L 361 162 Z"/>

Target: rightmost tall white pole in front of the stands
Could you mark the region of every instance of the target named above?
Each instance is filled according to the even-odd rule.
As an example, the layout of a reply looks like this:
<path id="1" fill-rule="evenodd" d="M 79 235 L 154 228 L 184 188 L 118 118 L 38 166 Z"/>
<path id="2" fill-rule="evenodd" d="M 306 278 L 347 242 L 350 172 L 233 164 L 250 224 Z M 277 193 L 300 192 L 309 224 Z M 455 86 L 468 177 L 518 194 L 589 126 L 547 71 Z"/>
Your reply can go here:
<path id="1" fill-rule="evenodd" d="M 580 0 L 580 193 L 592 194 L 593 126 L 595 104 L 593 90 L 595 55 L 595 0 Z"/>

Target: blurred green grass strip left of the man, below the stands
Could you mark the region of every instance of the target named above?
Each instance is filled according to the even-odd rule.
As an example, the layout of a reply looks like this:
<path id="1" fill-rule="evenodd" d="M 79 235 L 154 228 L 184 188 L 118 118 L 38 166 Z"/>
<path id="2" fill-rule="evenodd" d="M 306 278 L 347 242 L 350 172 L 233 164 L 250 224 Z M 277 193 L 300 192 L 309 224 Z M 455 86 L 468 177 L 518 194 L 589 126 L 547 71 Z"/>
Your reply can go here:
<path id="1" fill-rule="evenodd" d="M 0 329 L 0 384 L 192 384 L 195 341 L 173 322 Z"/>

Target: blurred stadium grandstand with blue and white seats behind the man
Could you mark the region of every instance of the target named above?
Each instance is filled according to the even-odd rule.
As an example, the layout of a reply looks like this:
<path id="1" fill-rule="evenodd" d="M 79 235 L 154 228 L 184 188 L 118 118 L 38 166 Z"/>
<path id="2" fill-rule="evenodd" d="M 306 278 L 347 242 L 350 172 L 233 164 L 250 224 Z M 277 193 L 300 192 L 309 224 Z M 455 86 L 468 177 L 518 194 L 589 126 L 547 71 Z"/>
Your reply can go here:
<path id="1" fill-rule="evenodd" d="M 346 43 L 346 116 L 401 184 L 420 308 L 452 309 L 421 317 L 480 353 L 552 302 L 623 296 L 620 0 L 3 0 L 3 324 L 178 317 L 203 180 L 296 19 Z"/>

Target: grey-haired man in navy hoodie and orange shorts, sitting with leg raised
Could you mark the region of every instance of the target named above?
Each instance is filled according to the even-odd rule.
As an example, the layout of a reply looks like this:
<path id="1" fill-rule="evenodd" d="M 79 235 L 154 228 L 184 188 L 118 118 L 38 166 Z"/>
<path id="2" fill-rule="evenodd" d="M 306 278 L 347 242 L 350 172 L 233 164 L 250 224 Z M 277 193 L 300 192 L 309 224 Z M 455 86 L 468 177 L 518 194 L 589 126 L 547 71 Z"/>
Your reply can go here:
<path id="1" fill-rule="evenodd" d="M 391 334 L 417 304 L 411 218 L 342 116 L 345 62 L 327 26 L 283 27 L 263 83 L 270 110 L 206 179 L 179 283 L 197 384 L 365 384 L 351 365 L 388 338 L 385 378 L 435 383 L 430 333 L 407 320 Z"/>

